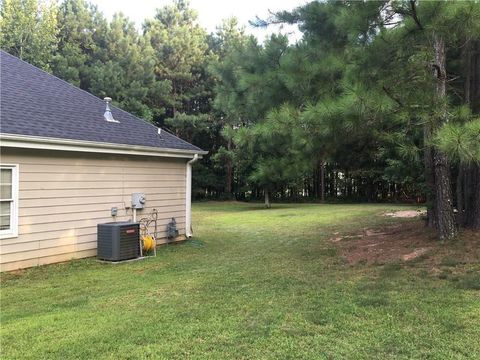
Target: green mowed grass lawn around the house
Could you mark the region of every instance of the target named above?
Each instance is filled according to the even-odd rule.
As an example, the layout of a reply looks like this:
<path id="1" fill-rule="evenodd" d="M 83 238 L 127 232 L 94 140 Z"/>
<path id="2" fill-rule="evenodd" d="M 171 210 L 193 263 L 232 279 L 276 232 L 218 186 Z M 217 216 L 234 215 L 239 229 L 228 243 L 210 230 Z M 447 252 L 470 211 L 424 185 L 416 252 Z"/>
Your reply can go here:
<path id="1" fill-rule="evenodd" d="M 156 258 L 4 274 L 1 358 L 480 358 L 478 290 L 421 261 L 348 265 L 329 241 L 412 221 L 394 209 L 196 204 L 194 240 Z"/>

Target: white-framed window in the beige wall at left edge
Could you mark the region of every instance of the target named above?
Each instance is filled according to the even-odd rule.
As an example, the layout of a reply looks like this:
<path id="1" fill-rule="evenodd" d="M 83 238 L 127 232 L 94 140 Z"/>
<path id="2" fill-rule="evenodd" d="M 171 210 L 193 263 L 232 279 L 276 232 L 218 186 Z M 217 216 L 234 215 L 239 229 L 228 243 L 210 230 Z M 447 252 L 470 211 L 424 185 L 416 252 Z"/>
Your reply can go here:
<path id="1" fill-rule="evenodd" d="M 0 239 L 18 236 L 18 165 L 0 164 Z"/>

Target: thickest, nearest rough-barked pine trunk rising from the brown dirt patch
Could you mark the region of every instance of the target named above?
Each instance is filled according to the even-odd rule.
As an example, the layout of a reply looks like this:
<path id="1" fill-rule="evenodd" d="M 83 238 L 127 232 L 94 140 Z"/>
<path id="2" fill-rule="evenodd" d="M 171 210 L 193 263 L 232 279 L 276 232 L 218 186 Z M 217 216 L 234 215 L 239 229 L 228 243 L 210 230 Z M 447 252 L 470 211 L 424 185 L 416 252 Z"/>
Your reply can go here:
<path id="1" fill-rule="evenodd" d="M 436 95 L 443 113 L 435 119 L 434 131 L 446 119 L 446 53 L 445 42 L 439 35 L 434 35 L 435 73 L 437 78 Z M 455 216 L 453 213 L 452 186 L 450 182 L 450 168 L 447 156 L 439 151 L 433 151 L 433 167 L 435 174 L 435 211 L 437 218 L 437 233 L 440 240 L 453 239 L 457 234 Z"/>

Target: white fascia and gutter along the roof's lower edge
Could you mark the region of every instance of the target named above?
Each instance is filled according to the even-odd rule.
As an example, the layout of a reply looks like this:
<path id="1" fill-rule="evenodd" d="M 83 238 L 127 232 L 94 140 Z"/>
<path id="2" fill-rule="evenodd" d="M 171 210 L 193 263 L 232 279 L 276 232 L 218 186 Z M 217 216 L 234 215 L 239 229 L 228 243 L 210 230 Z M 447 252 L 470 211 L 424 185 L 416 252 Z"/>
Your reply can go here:
<path id="1" fill-rule="evenodd" d="M 82 141 L 58 138 L 45 138 L 39 136 L 25 136 L 16 134 L 0 134 L 1 147 L 15 147 L 25 149 L 77 151 L 102 154 L 143 155 L 158 157 L 173 157 L 190 159 L 195 154 L 205 155 L 208 151 L 182 150 L 170 148 L 155 148 L 139 145 L 124 145 L 101 143 L 95 141 Z"/>

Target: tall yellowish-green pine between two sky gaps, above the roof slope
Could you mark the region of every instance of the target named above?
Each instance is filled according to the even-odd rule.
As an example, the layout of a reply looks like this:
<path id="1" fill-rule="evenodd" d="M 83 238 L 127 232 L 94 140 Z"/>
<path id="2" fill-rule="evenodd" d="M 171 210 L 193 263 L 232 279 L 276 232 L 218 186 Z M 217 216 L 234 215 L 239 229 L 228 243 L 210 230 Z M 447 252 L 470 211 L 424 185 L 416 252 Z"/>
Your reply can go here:
<path id="1" fill-rule="evenodd" d="M 208 55 L 205 31 L 197 14 L 185 1 L 157 9 L 144 24 L 144 34 L 153 49 L 155 80 L 169 84 L 168 93 L 153 93 L 149 105 L 155 120 L 191 139 L 191 131 L 209 110 L 205 68 Z"/>

